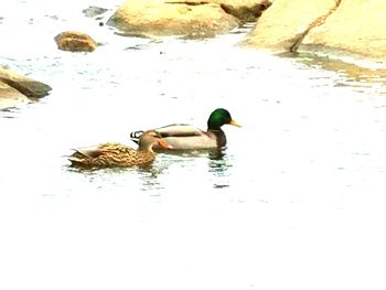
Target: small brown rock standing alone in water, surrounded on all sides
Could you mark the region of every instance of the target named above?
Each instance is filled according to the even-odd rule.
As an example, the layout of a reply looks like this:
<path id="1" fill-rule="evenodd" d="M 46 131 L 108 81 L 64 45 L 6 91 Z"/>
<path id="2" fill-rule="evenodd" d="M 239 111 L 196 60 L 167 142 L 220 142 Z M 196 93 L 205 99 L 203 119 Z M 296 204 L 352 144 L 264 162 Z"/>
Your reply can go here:
<path id="1" fill-rule="evenodd" d="M 65 31 L 55 36 L 57 49 L 71 52 L 93 52 L 97 43 L 87 34 L 78 31 Z"/>

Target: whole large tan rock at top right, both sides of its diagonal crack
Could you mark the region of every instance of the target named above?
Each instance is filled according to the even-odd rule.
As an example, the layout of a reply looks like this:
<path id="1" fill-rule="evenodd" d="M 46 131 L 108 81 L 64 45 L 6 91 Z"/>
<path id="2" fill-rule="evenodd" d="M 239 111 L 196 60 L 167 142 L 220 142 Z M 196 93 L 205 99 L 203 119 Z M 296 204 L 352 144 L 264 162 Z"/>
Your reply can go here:
<path id="1" fill-rule="evenodd" d="M 275 0 L 243 42 L 386 66 L 385 0 Z M 349 56 L 349 57 L 347 57 Z M 360 61 L 360 62 L 358 62 Z"/>

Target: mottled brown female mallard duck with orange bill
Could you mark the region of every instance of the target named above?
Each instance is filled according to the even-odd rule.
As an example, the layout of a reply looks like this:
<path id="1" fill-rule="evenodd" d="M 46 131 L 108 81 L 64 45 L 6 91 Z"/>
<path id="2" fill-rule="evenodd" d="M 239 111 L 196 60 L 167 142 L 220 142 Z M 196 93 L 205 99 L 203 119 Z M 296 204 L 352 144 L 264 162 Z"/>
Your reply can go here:
<path id="1" fill-rule="evenodd" d="M 104 143 L 76 149 L 68 160 L 73 167 L 82 168 L 141 165 L 154 160 L 156 152 L 152 150 L 154 146 L 162 149 L 171 148 L 160 133 L 149 130 L 141 135 L 137 150 L 120 143 Z"/>

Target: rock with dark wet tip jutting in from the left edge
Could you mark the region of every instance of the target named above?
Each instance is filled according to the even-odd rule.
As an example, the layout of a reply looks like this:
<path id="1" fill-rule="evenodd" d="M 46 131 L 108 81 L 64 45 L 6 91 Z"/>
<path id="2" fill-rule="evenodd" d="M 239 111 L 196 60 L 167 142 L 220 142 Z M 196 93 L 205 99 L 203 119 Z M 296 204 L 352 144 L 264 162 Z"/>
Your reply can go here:
<path id="1" fill-rule="evenodd" d="M 30 98 L 41 98 L 51 87 L 26 76 L 0 67 L 0 107 L 13 107 L 28 103 Z"/>

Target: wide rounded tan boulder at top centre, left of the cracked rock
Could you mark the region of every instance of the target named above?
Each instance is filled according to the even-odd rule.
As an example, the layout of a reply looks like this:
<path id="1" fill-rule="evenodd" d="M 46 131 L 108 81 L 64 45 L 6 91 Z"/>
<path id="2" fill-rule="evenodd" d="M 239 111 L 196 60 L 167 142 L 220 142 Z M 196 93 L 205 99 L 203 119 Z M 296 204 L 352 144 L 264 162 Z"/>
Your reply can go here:
<path id="1" fill-rule="evenodd" d="M 127 0 L 107 24 L 130 35 L 206 37 L 237 28 L 239 20 L 216 3 Z"/>

